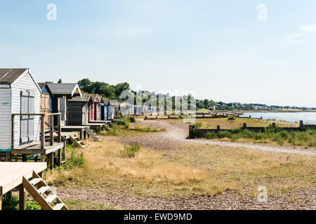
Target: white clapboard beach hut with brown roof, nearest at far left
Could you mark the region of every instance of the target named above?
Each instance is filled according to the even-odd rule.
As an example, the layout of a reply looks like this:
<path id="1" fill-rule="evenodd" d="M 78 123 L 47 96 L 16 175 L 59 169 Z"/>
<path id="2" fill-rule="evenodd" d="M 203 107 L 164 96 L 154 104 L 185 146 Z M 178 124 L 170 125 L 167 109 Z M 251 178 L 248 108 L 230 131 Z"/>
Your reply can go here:
<path id="1" fill-rule="evenodd" d="M 12 127 L 12 114 L 40 113 L 40 100 L 41 88 L 29 69 L 0 69 L 1 152 L 39 141 L 39 116 L 15 116 Z"/>

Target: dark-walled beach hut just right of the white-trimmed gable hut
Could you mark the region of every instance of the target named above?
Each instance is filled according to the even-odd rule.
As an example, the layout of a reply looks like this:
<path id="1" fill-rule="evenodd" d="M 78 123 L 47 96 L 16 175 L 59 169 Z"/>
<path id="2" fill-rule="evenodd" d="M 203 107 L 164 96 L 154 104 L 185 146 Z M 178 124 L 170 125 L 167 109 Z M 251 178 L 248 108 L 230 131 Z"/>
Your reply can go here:
<path id="1" fill-rule="evenodd" d="M 89 106 L 93 104 L 91 94 L 68 99 L 68 125 L 86 125 L 89 121 Z"/>

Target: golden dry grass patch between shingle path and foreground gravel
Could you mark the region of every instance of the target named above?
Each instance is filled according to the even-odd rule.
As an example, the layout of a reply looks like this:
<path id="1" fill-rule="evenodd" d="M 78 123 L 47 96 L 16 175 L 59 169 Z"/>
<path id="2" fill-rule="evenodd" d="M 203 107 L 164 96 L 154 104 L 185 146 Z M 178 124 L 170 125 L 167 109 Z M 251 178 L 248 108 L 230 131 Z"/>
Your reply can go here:
<path id="1" fill-rule="evenodd" d="M 141 148 L 135 158 L 122 158 L 124 146 L 103 139 L 87 142 L 84 167 L 49 172 L 46 181 L 139 197 L 218 195 L 223 190 L 254 194 L 258 186 L 267 186 L 270 194 L 315 188 L 315 158 L 219 146 Z"/>

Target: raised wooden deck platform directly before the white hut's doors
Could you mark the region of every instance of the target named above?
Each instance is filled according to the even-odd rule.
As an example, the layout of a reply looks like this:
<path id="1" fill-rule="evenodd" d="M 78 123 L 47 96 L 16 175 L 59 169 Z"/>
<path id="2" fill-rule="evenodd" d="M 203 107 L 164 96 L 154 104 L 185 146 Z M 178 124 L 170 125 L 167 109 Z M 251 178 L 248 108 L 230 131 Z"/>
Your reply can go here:
<path id="1" fill-rule="evenodd" d="M 16 154 L 46 154 L 53 153 L 55 151 L 58 151 L 58 149 L 63 148 L 64 144 L 62 142 L 60 143 L 54 143 L 53 146 L 49 142 L 44 143 L 44 148 L 41 148 L 41 141 L 35 141 L 30 144 L 25 144 L 23 146 L 18 146 L 13 149 L 11 149 L 11 153 Z"/>

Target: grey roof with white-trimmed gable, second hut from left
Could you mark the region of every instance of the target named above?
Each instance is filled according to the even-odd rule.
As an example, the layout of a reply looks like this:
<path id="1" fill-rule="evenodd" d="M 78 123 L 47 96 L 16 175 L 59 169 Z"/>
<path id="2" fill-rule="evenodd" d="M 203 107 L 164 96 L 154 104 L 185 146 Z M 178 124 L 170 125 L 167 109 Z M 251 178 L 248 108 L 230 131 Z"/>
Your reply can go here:
<path id="1" fill-rule="evenodd" d="M 77 83 L 47 83 L 51 93 L 58 95 L 70 95 L 70 97 L 82 97 Z"/>

